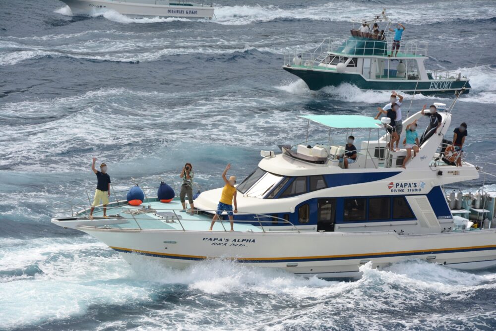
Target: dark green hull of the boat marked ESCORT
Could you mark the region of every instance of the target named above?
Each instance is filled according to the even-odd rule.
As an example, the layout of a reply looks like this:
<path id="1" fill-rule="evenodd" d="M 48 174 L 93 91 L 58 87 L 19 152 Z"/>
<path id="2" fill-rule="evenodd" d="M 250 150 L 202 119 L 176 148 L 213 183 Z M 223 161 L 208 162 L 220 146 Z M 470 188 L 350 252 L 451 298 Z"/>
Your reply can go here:
<path id="1" fill-rule="evenodd" d="M 391 80 L 375 79 L 367 80 L 361 74 L 357 73 L 338 73 L 329 70 L 303 69 L 289 65 L 283 66 L 283 69 L 300 77 L 307 83 L 312 91 L 318 91 L 326 86 L 339 86 L 342 83 L 349 83 L 357 86 L 362 90 L 391 91 L 398 90 L 403 92 L 418 92 L 422 94 L 434 93 L 454 93 L 454 91 L 465 89 L 464 93 L 470 91 L 470 83 L 466 79 L 442 79 L 442 80 Z"/>

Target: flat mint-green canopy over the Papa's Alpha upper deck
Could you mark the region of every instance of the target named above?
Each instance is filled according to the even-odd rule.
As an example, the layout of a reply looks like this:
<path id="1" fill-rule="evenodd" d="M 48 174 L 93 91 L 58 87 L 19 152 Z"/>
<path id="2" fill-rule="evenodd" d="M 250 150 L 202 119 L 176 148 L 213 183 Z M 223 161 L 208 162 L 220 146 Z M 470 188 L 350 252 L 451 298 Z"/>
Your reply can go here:
<path id="1" fill-rule="evenodd" d="M 377 129 L 383 127 L 380 120 L 362 115 L 305 115 L 300 117 L 335 129 Z"/>

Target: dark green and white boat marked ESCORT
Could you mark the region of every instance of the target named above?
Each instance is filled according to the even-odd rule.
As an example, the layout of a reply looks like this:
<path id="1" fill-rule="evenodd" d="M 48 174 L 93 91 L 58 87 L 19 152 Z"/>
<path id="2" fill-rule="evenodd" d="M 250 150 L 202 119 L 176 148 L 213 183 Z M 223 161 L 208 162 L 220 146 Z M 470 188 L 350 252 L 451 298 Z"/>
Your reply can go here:
<path id="1" fill-rule="evenodd" d="M 427 42 L 401 40 L 399 51 L 392 54 L 393 23 L 384 12 L 360 29 L 352 29 L 346 40 L 326 38 L 313 51 L 284 55 L 283 69 L 300 77 L 310 90 L 349 83 L 362 90 L 400 90 L 422 94 L 470 91 L 467 77 L 444 70 L 426 70 Z M 374 23 L 383 32 L 374 33 Z M 384 26 L 385 24 L 385 26 Z M 365 29 L 364 29 L 365 28 Z M 380 29 L 380 28 L 379 28 Z M 379 31 L 379 30 L 376 30 Z"/>

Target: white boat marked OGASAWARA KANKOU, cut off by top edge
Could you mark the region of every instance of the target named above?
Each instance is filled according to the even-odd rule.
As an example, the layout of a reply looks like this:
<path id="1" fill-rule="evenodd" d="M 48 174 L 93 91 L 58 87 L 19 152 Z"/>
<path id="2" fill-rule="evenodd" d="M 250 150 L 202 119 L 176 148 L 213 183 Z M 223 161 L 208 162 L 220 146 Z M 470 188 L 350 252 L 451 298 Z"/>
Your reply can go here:
<path id="1" fill-rule="evenodd" d="M 186 0 L 61 0 L 76 13 L 99 13 L 115 10 L 125 15 L 211 18 L 214 7 Z"/>

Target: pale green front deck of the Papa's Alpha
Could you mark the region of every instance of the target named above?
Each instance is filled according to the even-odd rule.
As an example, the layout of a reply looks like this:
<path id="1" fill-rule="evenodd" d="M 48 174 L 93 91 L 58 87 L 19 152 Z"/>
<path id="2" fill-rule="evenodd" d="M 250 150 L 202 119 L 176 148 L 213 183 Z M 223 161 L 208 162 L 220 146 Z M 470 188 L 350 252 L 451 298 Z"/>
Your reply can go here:
<path id="1" fill-rule="evenodd" d="M 87 210 L 78 214 L 78 217 L 87 217 Z M 212 219 L 203 213 L 187 213 L 182 210 L 179 200 L 170 203 L 158 201 L 147 201 L 141 206 L 130 206 L 126 203 L 110 204 L 107 207 L 107 219 L 103 218 L 103 208 L 96 207 L 93 213 L 93 221 L 99 228 L 115 229 L 143 229 L 143 230 L 186 230 L 186 231 L 206 231 L 210 227 Z M 84 225 L 92 226 L 92 222 Z M 108 222 L 106 222 L 108 221 Z M 95 226 L 93 225 L 93 226 Z M 229 231 L 231 225 L 229 221 L 217 221 L 214 224 L 214 231 Z M 234 224 L 235 231 L 241 232 L 262 232 L 262 229 L 249 223 Z"/>

